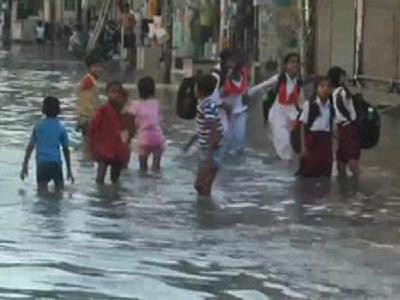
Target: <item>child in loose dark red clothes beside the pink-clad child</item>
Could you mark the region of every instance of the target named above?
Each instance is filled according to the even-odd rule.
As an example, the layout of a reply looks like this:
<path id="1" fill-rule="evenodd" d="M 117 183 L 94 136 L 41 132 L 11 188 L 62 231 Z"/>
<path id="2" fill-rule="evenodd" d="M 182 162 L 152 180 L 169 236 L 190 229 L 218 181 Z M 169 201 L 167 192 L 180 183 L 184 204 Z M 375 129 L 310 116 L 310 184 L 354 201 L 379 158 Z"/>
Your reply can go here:
<path id="1" fill-rule="evenodd" d="M 95 112 L 88 129 L 89 148 L 98 163 L 96 182 L 100 185 L 108 168 L 111 182 L 117 183 L 130 157 L 131 136 L 122 113 L 127 93 L 120 82 L 109 83 L 106 91 L 108 102 Z"/>

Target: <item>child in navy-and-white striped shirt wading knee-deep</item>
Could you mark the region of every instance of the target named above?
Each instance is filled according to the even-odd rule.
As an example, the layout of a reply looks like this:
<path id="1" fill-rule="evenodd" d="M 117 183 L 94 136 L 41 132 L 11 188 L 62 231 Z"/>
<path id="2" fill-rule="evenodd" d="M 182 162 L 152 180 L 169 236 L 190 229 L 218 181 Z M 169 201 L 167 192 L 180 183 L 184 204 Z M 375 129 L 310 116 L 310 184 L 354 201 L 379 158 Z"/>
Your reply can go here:
<path id="1" fill-rule="evenodd" d="M 197 82 L 197 136 L 199 143 L 199 169 L 195 188 L 200 196 L 210 197 L 212 185 L 221 163 L 220 142 L 223 126 L 218 106 L 212 98 L 217 80 L 204 75 Z"/>

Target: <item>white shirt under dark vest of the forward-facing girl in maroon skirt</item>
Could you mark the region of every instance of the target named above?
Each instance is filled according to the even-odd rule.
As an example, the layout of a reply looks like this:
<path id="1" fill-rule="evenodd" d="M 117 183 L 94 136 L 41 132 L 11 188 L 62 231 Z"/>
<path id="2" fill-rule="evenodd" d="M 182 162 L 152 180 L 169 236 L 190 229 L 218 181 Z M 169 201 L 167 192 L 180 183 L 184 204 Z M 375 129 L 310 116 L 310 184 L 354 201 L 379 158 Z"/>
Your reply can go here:
<path id="1" fill-rule="evenodd" d="M 321 99 L 316 100 L 320 115 L 316 118 L 315 122 L 311 125 L 310 131 L 331 131 L 331 103 L 327 100 L 322 102 Z M 303 104 L 303 112 L 300 115 L 300 122 L 303 124 L 308 123 L 310 114 L 310 101 Z"/>

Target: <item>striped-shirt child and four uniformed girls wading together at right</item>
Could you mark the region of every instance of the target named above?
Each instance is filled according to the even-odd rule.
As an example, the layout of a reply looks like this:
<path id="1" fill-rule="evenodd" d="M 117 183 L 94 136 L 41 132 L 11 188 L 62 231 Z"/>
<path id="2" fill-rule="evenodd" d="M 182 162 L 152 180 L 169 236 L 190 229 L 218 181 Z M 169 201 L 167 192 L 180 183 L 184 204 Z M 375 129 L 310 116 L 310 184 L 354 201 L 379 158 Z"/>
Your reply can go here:
<path id="1" fill-rule="evenodd" d="M 234 52 L 223 52 L 219 72 L 198 80 L 200 167 L 195 187 L 200 195 L 210 196 L 216 171 L 225 154 L 230 150 L 242 153 L 248 101 L 262 90 L 273 94 L 267 115 L 272 142 L 281 160 L 291 161 L 296 157 L 291 132 L 295 126 L 301 128 L 298 176 L 331 177 L 335 137 L 339 176 L 346 176 L 348 169 L 354 176 L 359 174 L 361 147 L 357 113 L 346 87 L 345 70 L 332 67 L 326 77 L 315 79 L 313 95 L 305 100 L 299 54 L 288 54 L 281 74 L 251 88 L 246 69 L 237 58 Z"/>

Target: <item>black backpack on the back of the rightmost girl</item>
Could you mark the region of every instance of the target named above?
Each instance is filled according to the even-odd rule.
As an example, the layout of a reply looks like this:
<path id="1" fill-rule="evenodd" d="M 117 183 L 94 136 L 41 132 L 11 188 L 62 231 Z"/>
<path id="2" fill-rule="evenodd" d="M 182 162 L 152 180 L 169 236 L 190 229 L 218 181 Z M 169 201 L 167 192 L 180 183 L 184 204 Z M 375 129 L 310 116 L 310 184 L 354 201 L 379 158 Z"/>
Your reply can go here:
<path id="1" fill-rule="evenodd" d="M 368 103 L 362 94 L 353 96 L 354 109 L 357 113 L 355 121 L 358 139 L 362 149 L 374 148 L 379 143 L 381 119 L 378 110 Z"/>

